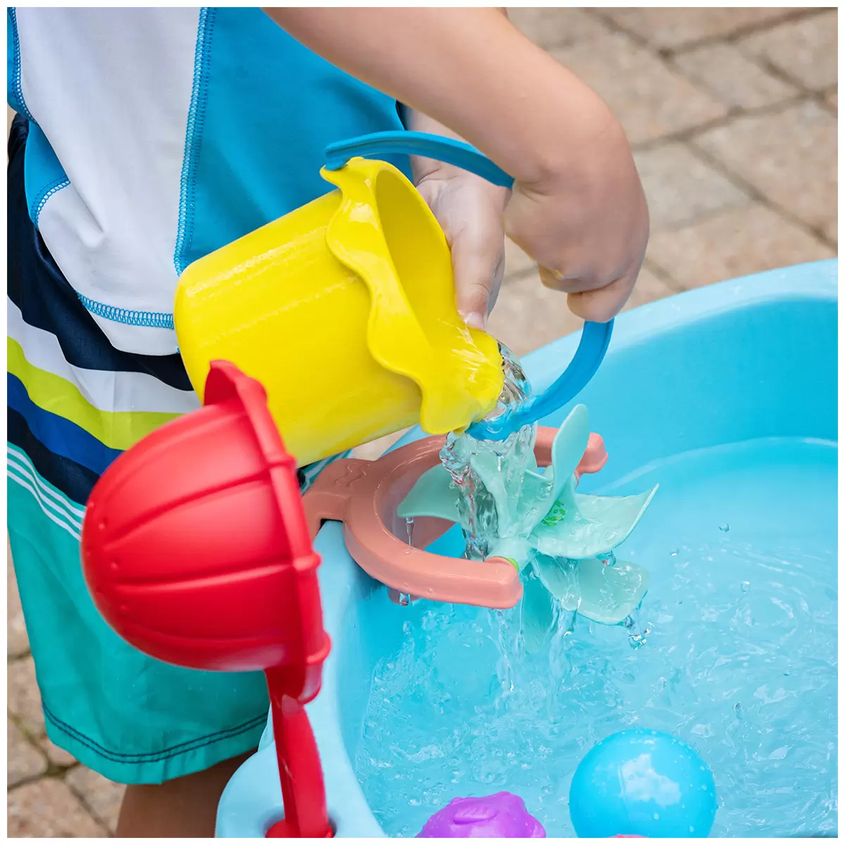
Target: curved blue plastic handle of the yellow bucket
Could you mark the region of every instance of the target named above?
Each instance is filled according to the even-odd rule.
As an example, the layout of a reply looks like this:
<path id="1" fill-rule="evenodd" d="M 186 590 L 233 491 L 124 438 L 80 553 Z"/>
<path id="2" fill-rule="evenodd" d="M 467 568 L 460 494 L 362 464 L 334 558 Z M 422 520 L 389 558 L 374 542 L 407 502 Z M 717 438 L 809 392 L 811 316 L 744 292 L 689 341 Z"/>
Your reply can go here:
<path id="1" fill-rule="evenodd" d="M 357 155 L 391 154 L 424 155 L 461 167 L 503 188 L 512 188 L 514 184 L 513 177 L 470 144 L 425 132 L 374 132 L 329 144 L 325 148 L 325 166 L 329 170 L 340 170 Z M 609 323 L 585 323 L 581 330 L 581 341 L 569 367 L 548 390 L 535 396 L 518 412 L 504 413 L 493 420 L 472 423 L 467 429 L 468 433 L 476 439 L 504 440 L 518 428 L 536 423 L 563 407 L 581 393 L 596 373 L 604 353 L 608 351 L 612 332 L 613 320 Z"/>

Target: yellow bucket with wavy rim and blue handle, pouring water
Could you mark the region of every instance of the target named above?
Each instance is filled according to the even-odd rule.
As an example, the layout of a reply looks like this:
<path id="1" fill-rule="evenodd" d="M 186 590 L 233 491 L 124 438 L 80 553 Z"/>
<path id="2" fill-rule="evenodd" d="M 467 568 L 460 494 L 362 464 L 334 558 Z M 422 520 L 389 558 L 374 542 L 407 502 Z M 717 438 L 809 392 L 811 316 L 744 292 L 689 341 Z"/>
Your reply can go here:
<path id="1" fill-rule="evenodd" d="M 417 189 L 363 158 L 387 153 L 513 183 L 469 144 L 436 135 L 331 144 L 320 174 L 337 190 L 195 261 L 177 286 L 179 348 L 200 398 L 217 359 L 258 379 L 299 466 L 417 422 L 430 434 L 474 423 L 476 436 L 500 439 L 569 401 L 608 346 L 611 324 L 586 324 L 544 395 L 482 422 L 504 383 L 499 347 L 458 314 L 449 245 Z"/>

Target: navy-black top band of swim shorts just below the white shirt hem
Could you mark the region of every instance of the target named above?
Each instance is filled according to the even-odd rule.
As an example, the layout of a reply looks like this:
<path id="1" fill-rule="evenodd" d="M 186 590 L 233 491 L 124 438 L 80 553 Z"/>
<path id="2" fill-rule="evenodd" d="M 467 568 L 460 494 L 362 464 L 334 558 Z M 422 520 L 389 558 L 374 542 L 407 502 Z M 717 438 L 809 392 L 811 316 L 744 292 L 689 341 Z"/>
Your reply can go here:
<path id="1" fill-rule="evenodd" d="M 177 390 L 192 390 L 182 357 L 137 355 L 112 346 L 74 288 L 65 279 L 41 234 L 32 225 L 24 188 L 29 127 L 16 117 L 8 140 L 8 297 L 24 320 L 56 335 L 65 359 L 75 367 L 112 373 L 149 373 Z"/>

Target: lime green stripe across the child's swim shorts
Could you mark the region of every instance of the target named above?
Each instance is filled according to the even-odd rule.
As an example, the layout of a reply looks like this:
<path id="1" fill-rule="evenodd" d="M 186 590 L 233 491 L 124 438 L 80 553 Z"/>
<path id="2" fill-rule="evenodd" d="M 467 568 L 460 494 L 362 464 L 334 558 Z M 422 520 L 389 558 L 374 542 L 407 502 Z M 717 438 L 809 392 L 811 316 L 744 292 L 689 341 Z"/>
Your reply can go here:
<path id="1" fill-rule="evenodd" d="M 24 383 L 35 405 L 76 423 L 79 428 L 85 428 L 85 431 L 110 449 L 128 449 L 155 428 L 179 416 L 152 411 L 101 411 L 85 399 L 75 384 L 33 367 L 26 360 L 24 350 L 17 341 L 7 337 L 6 345 L 8 372 Z"/>

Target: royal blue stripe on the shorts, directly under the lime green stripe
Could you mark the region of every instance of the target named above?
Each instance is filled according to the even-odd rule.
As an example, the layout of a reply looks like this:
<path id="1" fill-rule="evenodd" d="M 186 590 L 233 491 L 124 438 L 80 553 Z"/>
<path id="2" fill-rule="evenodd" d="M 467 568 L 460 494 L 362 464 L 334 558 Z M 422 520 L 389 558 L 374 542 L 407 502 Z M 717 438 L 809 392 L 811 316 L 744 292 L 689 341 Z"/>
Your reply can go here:
<path id="1" fill-rule="evenodd" d="M 120 455 L 120 450 L 110 449 L 85 428 L 35 405 L 17 376 L 6 373 L 6 385 L 8 406 L 24 417 L 33 437 L 46 449 L 76 461 L 97 475 L 105 472 L 106 466 Z"/>

